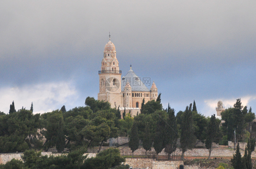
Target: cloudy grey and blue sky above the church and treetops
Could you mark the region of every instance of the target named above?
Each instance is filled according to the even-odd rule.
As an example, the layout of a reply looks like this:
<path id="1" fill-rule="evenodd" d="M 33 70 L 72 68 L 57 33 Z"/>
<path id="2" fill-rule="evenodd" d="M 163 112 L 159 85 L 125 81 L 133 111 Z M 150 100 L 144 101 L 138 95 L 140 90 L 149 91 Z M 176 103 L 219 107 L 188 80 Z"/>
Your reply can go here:
<path id="1" fill-rule="evenodd" d="M 0 111 L 49 112 L 97 99 L 105 44 L 155 81 L 177 113 L 216 114 L 241 98 L 256 112 L 256 1 L 1 1 Z"/>

